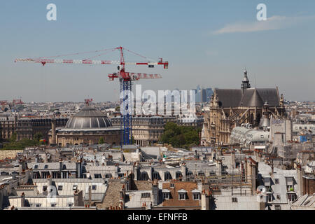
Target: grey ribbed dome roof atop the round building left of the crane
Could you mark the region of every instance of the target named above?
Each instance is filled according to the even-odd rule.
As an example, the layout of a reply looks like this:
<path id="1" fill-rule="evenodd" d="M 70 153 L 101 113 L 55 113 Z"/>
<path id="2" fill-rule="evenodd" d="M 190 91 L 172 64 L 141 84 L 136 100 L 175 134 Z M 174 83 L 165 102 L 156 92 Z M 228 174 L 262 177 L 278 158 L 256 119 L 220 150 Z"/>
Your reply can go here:
<path id="1" fill-rule="evenodd" d="M 104 113 L 90 106 L 83 108 L 66 123 L 66 128 L 69 129 L 95 129 L 111 126 L 111 121 Z"/>

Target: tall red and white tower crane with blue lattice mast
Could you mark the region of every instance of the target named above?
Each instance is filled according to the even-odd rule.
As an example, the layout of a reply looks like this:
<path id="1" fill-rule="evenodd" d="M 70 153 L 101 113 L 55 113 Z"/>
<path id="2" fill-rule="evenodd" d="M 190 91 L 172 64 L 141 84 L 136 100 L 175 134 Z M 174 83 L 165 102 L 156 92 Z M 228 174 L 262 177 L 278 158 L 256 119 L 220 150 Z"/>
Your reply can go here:
<path id="1" fill-rule="evenodd" d="M 94 60 L 94 59 L 55 59 L 53 57 L 64 57 L 69 55 L 79 55 L 85 53 L 94 53 L 94 52 L 113 52 L 118 50 L 120 52 L 120 60 L 119 61 L 111 61 L 111 60 Z M 132 82 L 135 80 L 139 80 L 141 78 L 162 78 L 159 74 L 147 74 L 147 73 L 132 73 L 125 70 L 125 65 L 147 65 L 149 68 L 154 68 L 155 65 L 162 65 L 164 69 L 168 69 L 169 62 L 163 62 L 162 58 L 158 61 L 154 61 L 152 59 L 148 59 L 146 62 L 125 62 L 124 51 L 130 52 L 134 55 L 142 57 L 144 59 L 148 59 L 148 57 L 144 57 L 139 55 L 136 52 L 132 52 L 131 50 L 127 50 L 122 46 L 111 49 L 104 50 L 96 50 L 92 52 L 80 52 L 69 55 L 56 55 L 51 57 L 38 57 L 38 58 L 19 58 L 15 59 L 15 62 L 33 62 L 33 63 L 41 63 L 43 66 L 45 64 L 50 63 L 60 63 L 60 64 L 117 64 L 118 72 L 110 73 L 109 80 L 114 80 L 118 78 L 120 81 L 120 105 L 123 105 L 123 114 L 121 114 L 120 118 L 120 130 L 121 130 L 121 145 L 128 145 L 131 143 L 132 139 L 132 99 L 130 99 L 128 92 L 132 91 Z M 104 54 L 99 54 L 94 57 L 99 57 Z M 122 109 L 120 109 L 122 111 Z"/>

